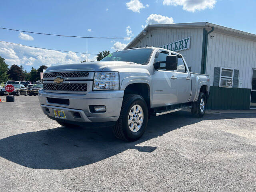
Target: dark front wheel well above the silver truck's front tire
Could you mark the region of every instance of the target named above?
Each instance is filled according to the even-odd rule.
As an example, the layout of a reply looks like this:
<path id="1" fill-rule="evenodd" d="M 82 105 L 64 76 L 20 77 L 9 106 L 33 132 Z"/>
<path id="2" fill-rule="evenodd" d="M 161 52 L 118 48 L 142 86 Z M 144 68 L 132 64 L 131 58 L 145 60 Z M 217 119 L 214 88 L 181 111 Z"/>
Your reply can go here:
<path id="1" fill-rule="evenodd" d="M 150 118 L 150 87 L 146 83 L 134 83 L 128 85 L 124 94 L 137 94 L 144 98 L 148 106 L 148 118 Z"/>

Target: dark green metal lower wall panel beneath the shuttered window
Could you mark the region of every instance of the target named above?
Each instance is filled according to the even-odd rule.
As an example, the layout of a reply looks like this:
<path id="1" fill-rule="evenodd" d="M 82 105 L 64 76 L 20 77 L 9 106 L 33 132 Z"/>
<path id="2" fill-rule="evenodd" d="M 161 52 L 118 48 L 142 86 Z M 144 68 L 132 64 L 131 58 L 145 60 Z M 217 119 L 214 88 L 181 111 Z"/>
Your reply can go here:
<path id="1" fill-rule="evenodd" d="M 207 109 L 250 109 L 251 90 L 210 86 Z"/>

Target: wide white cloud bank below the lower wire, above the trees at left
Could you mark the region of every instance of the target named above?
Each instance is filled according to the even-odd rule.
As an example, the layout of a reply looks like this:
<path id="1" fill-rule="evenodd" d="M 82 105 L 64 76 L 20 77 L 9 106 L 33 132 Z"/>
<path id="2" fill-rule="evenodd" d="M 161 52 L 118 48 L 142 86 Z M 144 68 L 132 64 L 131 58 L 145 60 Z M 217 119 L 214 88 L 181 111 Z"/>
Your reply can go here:
<path id="1" fill-rule="evenodd" d="M 76 54 L 74 52 L 63 53 L 3 42 L 0 42 L 0 55 L 5 58 L 6 64 L 22 65 L 28 71 L 31 70 L 31 66 L 38 68 L 41 65 L 52 66 L 80 63 L 80 61 L 86 59 L 85 54 Z M 88 60 L 92 60 L 90 54 L 88 54 Z"/>

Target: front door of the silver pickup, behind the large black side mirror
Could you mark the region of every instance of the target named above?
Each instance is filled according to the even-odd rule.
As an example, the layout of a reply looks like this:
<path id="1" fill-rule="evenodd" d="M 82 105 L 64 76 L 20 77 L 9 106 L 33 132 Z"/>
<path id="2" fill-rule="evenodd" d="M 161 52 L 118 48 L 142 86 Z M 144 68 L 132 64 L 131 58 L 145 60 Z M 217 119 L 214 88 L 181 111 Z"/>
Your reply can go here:
<path id="1" fill-rule="evenodd" d="M 169 52 L 162 51 L 155 58 L 154 62 L 166 61 Z M 161 66 L 165 66 L 162 63 Z M 176 74 L 174 71 L 166 71 L 166 69 L 153 69 L 152 74 L 152 107 L 166 106 L 178 103 L 178 87 L 176 84 Z"/>

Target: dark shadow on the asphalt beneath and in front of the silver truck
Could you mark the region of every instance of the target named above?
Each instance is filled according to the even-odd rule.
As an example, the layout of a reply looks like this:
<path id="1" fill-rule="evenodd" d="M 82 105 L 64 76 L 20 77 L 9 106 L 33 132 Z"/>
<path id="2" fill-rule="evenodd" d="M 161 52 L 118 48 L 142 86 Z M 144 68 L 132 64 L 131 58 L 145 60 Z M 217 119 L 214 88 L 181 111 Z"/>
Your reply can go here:
<path id="1" fill-rule="evenodd" d="M 155 146 L 142 143 L 188 124 L 229 118 L 255 118 L 255 114 L 206 114 L 204 118 L 194 118 L 190 112 L 181 111 L 153 117 L 148 122 L 145 134 L 136 142 L 116 139 L 111 127 L 58 127 L 27 132 L 1 139 L 0 156 L 28 168 L 70 169 L 99 162 L 128 149 L 153 152 Z"/>

